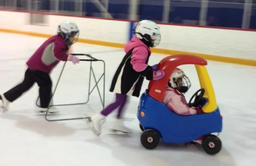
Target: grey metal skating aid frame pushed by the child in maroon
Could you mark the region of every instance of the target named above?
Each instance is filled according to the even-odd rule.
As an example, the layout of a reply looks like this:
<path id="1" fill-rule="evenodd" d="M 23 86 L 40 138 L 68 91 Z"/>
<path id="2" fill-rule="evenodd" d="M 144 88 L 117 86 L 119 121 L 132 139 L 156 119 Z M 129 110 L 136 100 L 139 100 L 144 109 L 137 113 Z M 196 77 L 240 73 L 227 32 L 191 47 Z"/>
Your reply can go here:
<path id="1" fill-rule="evenodd" d="M 87 118 L 89 118 L 89 117 L 77 117 L 77 118 L 65 118 L 65 119 L 48 119 L 47 115 L 48 115 L 48 112 L 49 112 L 49 109 L 50 109 L 51 106 L 72 106 L 72 105 L 87 104 L 87 103 L 89 102 L 89 100 L 90 100 L 90 95 L 91 95 L 92 91 L 93 91 L 95 88 L 97 88 L 97 91 L 98 91 L 98 93 L 99 93 L 99 96 L 100 96 L 100 99 L 101 99 L 102 107 L 103 107 L 103 108 L 105 107 L 105 61 L 104 61 L 104 60 L 98 60 L 98 59 L 92 57 L 90 54 L 71 54 L 71 55 L 82 55 L 82 56 L 87 56 L 87 57 L 91 58 L 91 59 L 80 59 L 80 61 L 89 61 L 89 62 L 90 62 L 90 76 L 89 76 L 88 99 L 87 99 L 87 101 L 84 102 L 84 103 L 59 104 L 59 105 L 50 105 L 50 106 L 48 106 L 47 112 L 46 112 L 46 114 L 45 114 L 45 119 L 46 119 L 47 121 L 67 121 L 67 120 L 79 120 L 79 119 L 87 119 Z M 92 67 L 92 62 L 96 62 L 96 61 L 101 61 L 101 62 L 103 62 L 103 73 L 102 73 L 101 77 L 100 77 L 98 80 L 96 80 L 96 76 L 95 76 L 95 73 L 94 73 L 94 70 L 93 70 L 93 67 Z M 54 88 L 53 95 L 52 95 L 50 101 L 52 101 L 53 96 L 54 96 L 54 94 L 55 94 L 55 92 L 56 92 L 56 90 L 57 90 L 57 87 L 58 87 L 58 85 L 59 85 L 59 80 L 60 80 L 60 78 L 61 78 L 61 75 L 63 74 L 63 71 L 64 71 L 64 68 L 65 68 L 66 63 L 67 63 L 67 62 L 64 63 L 63 68 L 62 68 L 62 70 L 61 70 L 61 72 L 60 72 L 59 79 L 58 79 L 57 84 L 56 84 L 56 86 L 55 86 L 55 88 Z M 94 80 L 95 80 L 95 82 L 96 82 L 95 86 L 93 86 L 92 89 L 91 89 L 91 75 L 93 76 L 93 78 L 94 78 Z M 99 83 L 99 81 L 100 81 L 102 78 L 103 78 L 103 95 L 101 96 L 98 83 Z M 39 96 L 37 97 L 37 101 L 38 101 L 38 100 L 39 100 Z M 36 104 L 37 104 L 37 101 L 36 101 Z M 37 105 L 37 106 L 38 106 L 38 105 Z"/>

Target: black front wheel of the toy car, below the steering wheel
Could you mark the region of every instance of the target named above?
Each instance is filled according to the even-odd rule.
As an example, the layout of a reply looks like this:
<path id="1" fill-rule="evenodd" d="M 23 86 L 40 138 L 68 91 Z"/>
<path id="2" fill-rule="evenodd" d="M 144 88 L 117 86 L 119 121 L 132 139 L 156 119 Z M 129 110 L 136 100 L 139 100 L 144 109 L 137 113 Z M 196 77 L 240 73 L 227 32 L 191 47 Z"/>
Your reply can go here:
<path id="1" fill-rule="evenodd" d="M 209 135 L 204 137 L 202 141 L 202 147 L 206 153 L 215 155 L 221 150 L 222 143 L 217 136 Z"/>

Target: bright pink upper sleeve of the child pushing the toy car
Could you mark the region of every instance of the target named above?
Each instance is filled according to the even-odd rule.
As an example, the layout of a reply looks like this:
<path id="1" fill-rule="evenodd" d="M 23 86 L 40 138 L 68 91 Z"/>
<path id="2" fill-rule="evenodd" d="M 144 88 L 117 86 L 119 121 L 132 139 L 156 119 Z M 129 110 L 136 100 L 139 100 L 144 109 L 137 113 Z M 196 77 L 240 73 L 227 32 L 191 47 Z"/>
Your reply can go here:
<path id="1" fill-rule="evenodd" d="M 135 47 L 133 49 L 131 64 L 133 70 L 140 72 L 147 68 L 146 60 L 148 58 L 148 50 L 144 46 Z"/>

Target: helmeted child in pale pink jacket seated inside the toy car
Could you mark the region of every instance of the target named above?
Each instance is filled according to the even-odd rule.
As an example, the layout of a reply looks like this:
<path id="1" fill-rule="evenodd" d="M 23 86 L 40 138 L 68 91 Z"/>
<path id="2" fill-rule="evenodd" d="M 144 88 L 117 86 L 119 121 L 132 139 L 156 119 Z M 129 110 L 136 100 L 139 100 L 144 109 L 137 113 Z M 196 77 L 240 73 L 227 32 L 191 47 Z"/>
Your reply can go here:
<path id="1" fill-rule="evenodd" d="M 191 83 L 183 70 L 176 68 L 169 79 L 166 86 L 163 102 L 176 114 L 188 116 L 202 113 L 202 109 L 198 106 L 189 107 L 185 96 L 183 95 L 190 88 Z"/>

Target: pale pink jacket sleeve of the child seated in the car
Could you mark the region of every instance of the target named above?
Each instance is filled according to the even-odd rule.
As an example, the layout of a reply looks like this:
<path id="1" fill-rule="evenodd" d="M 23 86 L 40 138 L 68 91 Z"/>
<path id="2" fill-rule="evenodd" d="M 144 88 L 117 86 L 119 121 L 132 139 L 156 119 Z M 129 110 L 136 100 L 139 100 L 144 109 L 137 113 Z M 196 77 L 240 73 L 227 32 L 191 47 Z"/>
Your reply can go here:
<path id="1" fill-rule="evenodd" d="M 179 115 L 194 115 L 197 113 L 195 109 L 192 109 L 188 107 L 186 104 L 182 103 L 181 96 L 176 94 L 173 91 L 170 91 L 169 93 L 173 93 L 172 97 L 169 99 L 169 101 L 166 103 L 168 108 L 170 108 L 172 111 L 176 112 L 176 114 Z"/>

